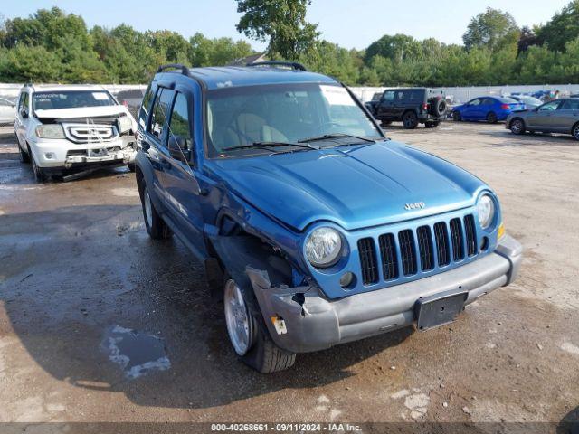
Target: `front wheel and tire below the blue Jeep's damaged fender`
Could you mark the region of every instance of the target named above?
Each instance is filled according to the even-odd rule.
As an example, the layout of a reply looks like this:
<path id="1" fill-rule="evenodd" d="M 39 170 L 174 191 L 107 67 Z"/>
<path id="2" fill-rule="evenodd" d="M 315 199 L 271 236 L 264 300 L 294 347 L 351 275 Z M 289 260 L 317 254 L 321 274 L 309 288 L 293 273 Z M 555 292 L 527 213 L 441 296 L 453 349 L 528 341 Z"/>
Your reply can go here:
<path id="1" fill-rule="evenodd" d="M 296 354 L 271 340 L 255 296 L 240 288 L 233 279 L 225 283 L 223 307 L 229 340 L 243 363 L 260 373 L 276 373 L 293 366 Z"/>

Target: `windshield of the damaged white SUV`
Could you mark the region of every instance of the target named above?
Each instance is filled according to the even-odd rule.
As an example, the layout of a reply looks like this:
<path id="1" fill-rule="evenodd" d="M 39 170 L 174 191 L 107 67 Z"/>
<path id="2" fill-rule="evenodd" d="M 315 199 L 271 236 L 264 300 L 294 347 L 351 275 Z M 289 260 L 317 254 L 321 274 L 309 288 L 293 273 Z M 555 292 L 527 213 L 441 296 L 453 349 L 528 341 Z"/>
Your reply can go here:
<path id="1" fill-rule="evenodd" d="M 36 92 L 33 94 L 34 110 L 76 109 L 79 107 L 114 106 L 115 100 L 106 90 L 69 90 L 62 92 Z"/>

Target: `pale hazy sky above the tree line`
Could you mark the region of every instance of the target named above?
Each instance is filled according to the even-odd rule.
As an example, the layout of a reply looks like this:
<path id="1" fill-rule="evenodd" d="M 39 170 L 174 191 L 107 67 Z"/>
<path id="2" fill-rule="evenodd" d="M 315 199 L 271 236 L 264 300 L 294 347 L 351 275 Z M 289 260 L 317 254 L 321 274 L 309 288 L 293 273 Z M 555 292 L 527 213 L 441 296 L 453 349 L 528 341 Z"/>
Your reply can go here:
<path id="1" fill-rule="evenodd" d="M 318 23 L 322 37 L 346 48 L 365 49 L 384 34 L 405 33 L 422 40 L 436 38 L 462 43 L 470 18 L 487 7 L 507 11 L 519 26 L 546 23 L 570 0 L 313 0 L 309 22 Z M 151 2 L 152 3 L 152 2 Z M 2 0 L 0 14 L 25 17 L 57 5 L 80 14 L 92 27 L 125 23 L 139 31 L 173 30 L 189 38 L 197 32 L 214 38 L 246 40 L 235 30 L 240 14 L 234 0 L 164 0 L 150 6 L 143 0 Z M 249 41 L 249 40 L 248 40 Z M 249 41 L 256 50 L 265 44 Z"/>

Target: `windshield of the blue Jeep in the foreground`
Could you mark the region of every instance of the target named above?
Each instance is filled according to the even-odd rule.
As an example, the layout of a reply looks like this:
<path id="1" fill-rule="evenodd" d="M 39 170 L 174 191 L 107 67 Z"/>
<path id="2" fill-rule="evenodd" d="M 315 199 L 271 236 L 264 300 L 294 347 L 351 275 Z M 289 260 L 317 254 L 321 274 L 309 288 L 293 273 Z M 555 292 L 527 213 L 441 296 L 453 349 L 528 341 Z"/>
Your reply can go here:
<path id="1" fill-rule="evenodd" d="M 297 143 L 324 135 L 384 138 L 344 87 L 315 83 L 210 90 L 207 132 L 212 157 L 269 152 L 263 147 L 228 149 L 234 146 Z"/>

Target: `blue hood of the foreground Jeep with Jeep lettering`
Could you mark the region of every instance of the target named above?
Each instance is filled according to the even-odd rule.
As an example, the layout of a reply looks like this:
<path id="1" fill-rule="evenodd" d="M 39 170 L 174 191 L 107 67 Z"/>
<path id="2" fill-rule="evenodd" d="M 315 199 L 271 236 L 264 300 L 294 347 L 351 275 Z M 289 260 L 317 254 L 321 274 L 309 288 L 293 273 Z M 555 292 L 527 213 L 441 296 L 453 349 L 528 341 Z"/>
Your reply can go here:
<path id="1" fill-rule="evenodd" d="M 456 165 L 392 141 L 212 163 L 233 192 L 299 231 L 317 221 L 355 230 L 456 210 L 486 188 Z"/>

